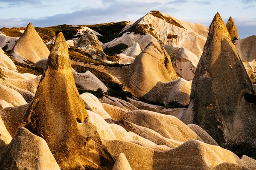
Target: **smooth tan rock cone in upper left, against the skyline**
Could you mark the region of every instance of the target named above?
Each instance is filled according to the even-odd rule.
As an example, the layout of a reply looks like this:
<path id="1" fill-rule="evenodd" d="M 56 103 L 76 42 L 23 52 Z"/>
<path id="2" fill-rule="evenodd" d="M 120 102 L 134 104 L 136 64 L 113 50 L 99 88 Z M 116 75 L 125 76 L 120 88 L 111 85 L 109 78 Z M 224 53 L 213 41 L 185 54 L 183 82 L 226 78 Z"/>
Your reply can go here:
<path id="1" fill-rule="evenodd" d="M 13 55 L 13 58 L 17 61 L 21 62 L 25 58 L 25 61 L 27 60 L 34 63 L 40 59 L 47 58 L 49 54 L 50 51 L 35 31 L 32 23 L 29 23 L 11 52 L 11 55 Z"/>

